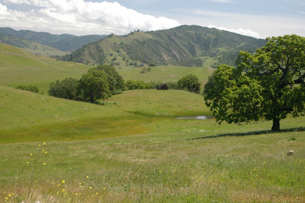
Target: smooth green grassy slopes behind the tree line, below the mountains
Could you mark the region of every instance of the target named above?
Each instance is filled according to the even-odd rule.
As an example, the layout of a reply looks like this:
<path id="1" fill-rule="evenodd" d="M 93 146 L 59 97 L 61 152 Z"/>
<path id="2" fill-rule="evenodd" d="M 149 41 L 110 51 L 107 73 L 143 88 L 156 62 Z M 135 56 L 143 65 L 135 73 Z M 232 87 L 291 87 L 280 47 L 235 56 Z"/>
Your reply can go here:
<path id="1" fill-rule="evenodd" d="M 34 85 L 47 94 L 49 84 L 65 77 L 80 79 L 92 64 L 65 62 L 54 58 L 33 55 L 23 49 L 0 43 L 0 85 L 17 87 Z M 195 74 L 205 84 L 213 69 L 202 67 L 155 66 L 151 71 L 141 73 L 142 68 L 123 66 L 116 69 L 123 79 L 143 80 L 145 82 L 177 82 L 188 74 Z"/>

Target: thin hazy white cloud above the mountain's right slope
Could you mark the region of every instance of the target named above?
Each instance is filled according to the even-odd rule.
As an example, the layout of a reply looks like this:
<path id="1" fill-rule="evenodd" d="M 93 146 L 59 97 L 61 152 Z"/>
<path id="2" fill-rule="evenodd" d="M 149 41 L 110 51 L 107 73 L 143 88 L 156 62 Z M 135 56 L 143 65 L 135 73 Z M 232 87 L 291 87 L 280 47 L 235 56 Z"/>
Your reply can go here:
<path id="1" fill-rule="evenodd" d="M 176 19 L 182 24 L 192 21 L 193 24 L 210 25 L 260 39 L 289 34 L 304 36 L 303 33 L 305 33 L 304 18 L 300 17 L 269 15 L 269 13 L 230 13 L 204 9 L 188 10 L 188 13 L 192 15 Z"/>

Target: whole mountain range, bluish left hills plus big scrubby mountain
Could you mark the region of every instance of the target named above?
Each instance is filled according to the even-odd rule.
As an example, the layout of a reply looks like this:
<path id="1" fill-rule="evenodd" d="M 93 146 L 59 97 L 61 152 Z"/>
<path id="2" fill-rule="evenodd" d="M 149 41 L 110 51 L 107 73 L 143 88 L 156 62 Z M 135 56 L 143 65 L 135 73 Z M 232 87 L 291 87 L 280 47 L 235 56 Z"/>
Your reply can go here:
<path id="1" fill-rule="evenodd" d="M 264 39 L 197 25 L 148 32 L 137 30 L 124 36 L 52 35 L 12 28 L 0 28 L 0 33 L 0 42 L 13 41 L 9 44 L 17 47 L 33 41 L 72 52 L 52 54 L 59 60 L 135 67 L 151 63 L 200 67 L 207 61 L 214 68 L 222 63 L 233 66 L 239 51 L 254 53 L 266 43 Z"/>

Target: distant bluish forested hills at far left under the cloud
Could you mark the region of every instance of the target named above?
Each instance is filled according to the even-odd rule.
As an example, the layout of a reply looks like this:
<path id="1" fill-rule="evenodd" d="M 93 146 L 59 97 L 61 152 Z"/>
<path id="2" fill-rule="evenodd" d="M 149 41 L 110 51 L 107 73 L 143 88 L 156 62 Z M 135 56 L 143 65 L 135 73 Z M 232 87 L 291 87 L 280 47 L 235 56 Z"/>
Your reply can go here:
<path id="1" fill-rule="evenodd" d="M 23 39 L 27 39 L 39 44 L 53 47 L 57 50 L 64 52 L 75 51 L 77 48 L 82 47 L 84 44 L 98 41 L 106 36 L 106 35 L 75 36 L 69 34 L 53 35 L 48 32 L 34 32 L 30 30 L 16 31 L 12 28 L 0 28 L 0 33 L 9 34 Z"/>

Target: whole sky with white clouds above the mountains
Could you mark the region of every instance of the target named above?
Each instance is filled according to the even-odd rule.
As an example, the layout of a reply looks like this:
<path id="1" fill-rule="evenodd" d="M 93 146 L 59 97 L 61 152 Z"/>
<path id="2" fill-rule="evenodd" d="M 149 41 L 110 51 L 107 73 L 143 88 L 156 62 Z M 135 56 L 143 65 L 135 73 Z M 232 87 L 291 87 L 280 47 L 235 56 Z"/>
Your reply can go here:
<path id="1" fill-rule="evenodd" d="M 0 0 L 0 27 L 124 35 L 200 25 L 265 39 L 305 37 L 305 0 Z"/>

